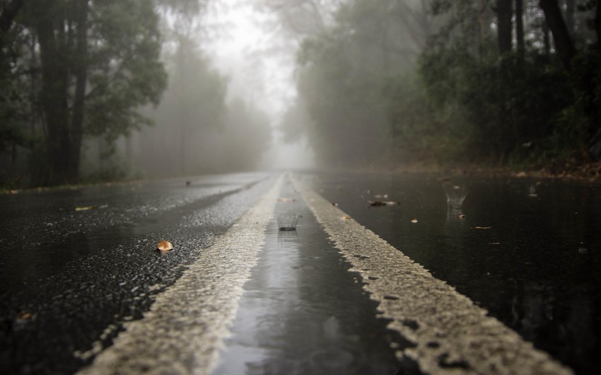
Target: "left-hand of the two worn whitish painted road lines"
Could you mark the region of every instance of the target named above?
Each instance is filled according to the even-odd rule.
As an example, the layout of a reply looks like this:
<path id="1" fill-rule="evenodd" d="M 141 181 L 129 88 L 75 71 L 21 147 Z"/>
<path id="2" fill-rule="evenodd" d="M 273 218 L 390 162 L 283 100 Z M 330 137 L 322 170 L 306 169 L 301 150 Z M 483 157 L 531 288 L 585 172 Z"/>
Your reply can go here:
<path id="1" fill-rule="evenodd" d="M 264 246 L 282 179 L 78 374 L 209 374 Z"/>

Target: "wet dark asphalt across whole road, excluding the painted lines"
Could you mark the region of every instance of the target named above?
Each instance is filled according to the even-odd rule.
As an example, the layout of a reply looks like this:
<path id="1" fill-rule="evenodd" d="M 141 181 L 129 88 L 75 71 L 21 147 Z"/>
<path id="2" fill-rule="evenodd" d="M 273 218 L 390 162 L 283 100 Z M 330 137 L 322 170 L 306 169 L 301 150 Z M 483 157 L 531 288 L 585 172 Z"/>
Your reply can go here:
<path id="1" fill-rule="evenodd" d="M 198 259 L 202 251 L 196 250 L 209 248 L 230 229 L 276 177 L 216 175 L 188 179 L 189 186 L 179 179 L 0 196 L 5 248 L 0 259 L 0 373 L 70 374 L 89 364 L 122 332 L 123 323 L 141 318 Z M 457 212 L 447 209 L 439 177 L 302 175 L 327 200 L 526 340 L 579 374 L 598 373 L 599 187 L 453 179 L 469 187 Z M 281 194 L 295 193 L 286 186 Z M 400 204 L 370 207 L 368 200 L 378 194 Z M 358 275 L 349 272 L 298 201 L 276 206 L 276 213 L 293 210 L 303 220 L 297 236 L 288 238 L 272 219 L 264 252 L 240 299 L 239 313 L 247 315 L 236 316 L 223 358 L 247 355 L 254 364 L 247 373 L 276 374 L 299 368 L 290 367 L 298 364 L 289 357 L 293 353 L 344 362 L 349 353 L 359 352 L 369 358 L 361 362 L 363 373 L 390 373 L 399 362 L 387 346 L 407 342 L 375 318 L 376 305 L 356 289 Z M 160 239 L 172 241 L 177 252 L 156 253 Z M 315 253 L 316 248 L 329 250 Z M 325 278 L 318 276 L 320 270 Z M 323 280 L 326 284 L 320 284 Z M 274 307 L 274 301 L 284 301 L 285 308 Z M 257 313 L 257 303 L 267 313 L 257 330 L 249 331 L 244 322 Z M 306 327 L 313 327 L 310 338 L 295 340 L 307 333 Z M 245 347 L 249 340 L 254 343 Z M 372 354 L 361 347 L 366 343 Z M 278 359 L 270 361 L 270 356 Z M 242 368 L 235 363 L 229 362 L 231 369 Z M 310 373 L 303 366 L 308 365 L 296 373 Z M 223 367 L 218 371 L 232 373 Z"/>

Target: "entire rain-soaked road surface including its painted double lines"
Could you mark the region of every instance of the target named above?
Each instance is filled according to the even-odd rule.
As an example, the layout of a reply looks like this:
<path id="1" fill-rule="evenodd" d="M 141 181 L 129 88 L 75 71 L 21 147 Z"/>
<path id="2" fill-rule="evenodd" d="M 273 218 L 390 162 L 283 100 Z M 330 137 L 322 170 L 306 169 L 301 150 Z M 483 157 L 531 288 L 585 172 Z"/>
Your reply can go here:
<path id="1" fill-rule="evenodd" d="M 303 174 L 300 179 L 301 185 L 338 202 L 344 212 L 327 213 L 327 209 L 337 210 L 327 201 L 322 202 L 320 211 L 316 202 L 322 198 L 313 197 L 313 190 L 309 188 L 301 198 L 290 181 L 278 188 L 281 178 L 267 174 L 205 177 L 192 180 L 189 186 L 185 180 L 165 180 L 0 197 L 0 228 L 7 234 L 7 243 L 17 250 L 7 252 L 0 263 L 1 372 L 69 374 L 93 359 L 86 374 L 128 373 L 127 369 L 149 374 L 167 370 L 178 374 L 411 374 L 419 373 L 418 362 L 421 369 L 440 373 L 467 374 L 478 372 L 478 366 L 489 366 L 495 370 L 491 373 L 502 374 L 515 371 L 511 363 L 501 363 L 512 361 L 530 366 L 521 369 L 542 374 L 567 371 L 544 352 L 532 350 L 505 325 L 578 373 L 596 371 L 599 356 L 593 354 L 599 347 L 599 315 L 594 306 L 598 306 L 598 292 L 591 282 L 599 272 L 580 272 L 585 274 L 581 279 L 574 279 L 578 272 L 564 276 L 566 269 L 576 270 L 583 264 L 571 253 L 553 260 L 553 248 L 547 250 L 549 255 L 539 255 L 550 259 L 550 271 L 532 265 L 533 260 L 540 260 L 527 251 L 515 254 L 515 248 L 520 250 L 520 245 L 530 241 L 528 236 L 539 241 L 551 237 L 552 242 L 561 237 L 564 245 L 572 241 L 566 238 L 580 238 L 573 240 L 578 242 L 573 243 L 576 253 L 588 257 L 587 265 L 595 270 L 598 242 L 593 226 L 598 223 L 594 214 L 598 202 L 593 198 L 578 198 L 578 205 L 573 188 L 554 187 L 545 193 L 545 185 L 534 182 L 537 194 L 532 197 L 530 184 L 472 181 L 463 211 L 449 214 L 440 181 L 432 176 Z M 552 194 L 554 189 L 559 193 Z M 595 189 L 581 190 L 590 191 Z M 378 192 L 402 204 L 368 207 L 366 201 Z M 293 200 L 276 202 L 278 196 Z M 598 200 L 598 194 L 594 196 Z M 503 202 L 508 197 L 514 201 Z M 566 205 L 560 210 L 563 214 L 577 206 L 590 221 L 550 212 L 554 219 L 566 219 L 568 224 L 560 220 L 567 225 L 561 233 L 546 221 L 542 224 L 548 226 L 520 222 L 544 221 L 537 216 L 544 203 L 537 206 L 536 202 L 548 197 L 556 205 Z M 93 208 L 76 211 L 76 207 Z M 484 214 L 477 207 L 484 207 Z M 522 211 L 526 217 L 515 215 Z M 278 231 L 276 214 L 280 212 L 302 215 L 296 231 Z M 328 214 L 333 216 L 324 221 Z M 348 219 L 341 219 L 347 214 Z M 460 219 L 462 214 L 465 218 Z M 518 224 L 510 221 L 513 225 L 506 231 L 495 231 L 507 217 Z M 337 229 L 341 222 L 351 224 L 347 233 L 351 239 L 338 236 L 346 231 Z M 474 229 L 476 226 L 491 228 Z M 518 228 L 529 231 L 526 239 Z M 549 230 L 539 233 L 541 228 Z M 582 236 L 568 236 L 577 229 Z M 358 233 L 365 234 L 354 238 Z M 449 301 L 460 302 L 453 302 L 443 318 L 436 311 L 424 316 L 419 308 L 409 309 L 409 303 L 404 310 L 399 308 L 406 297 L 399 287 L 403 277 L 392 282 L 399 272 L 386 267 L 395 265 L 402 253 L 376 235 L 489 308 L 490 315 L 505 325 L 496 319 L 481 321 L 486 311 L 411 261 L 404 272 L 419 275 L 426 285 L 437 285 L 426 288 L 431 291 L 426 294 L 436 295 L 442 288 Z M 178 251 L 153 252 L 154 243 L 163 238 L 174 238 Z M 503 255 L 503 262 L 492 258 L 491 263 L 489 253 L 482 250 L 484 245 L 505 246 L 506 251 L 509 246 L 515 251 Z M 352 251 L 359 253 L 353 255 Z M 363 255 L 369 251 L 375 253 Z M 386 252 L 390 261 L 377 259 Z M 373 264 L 366 266 L 369 262 Z M 378 271 L 380 265 L 383 268 Z M 524 273 L 524 265 L 532 272 Z M 561 280 L 556 284 L 569 285 L 569 303 L 556 301 L 554 284 L 547 280 L 554 277 L 541 277 L 558 270 L 564 273 L 556 274 L 561 275 L 555 277 Z M 380 273 L 376 276 L 376 272 Z M 482 272 L 490 279 L 483 281 Z M 528 287 L 532 283 L 535 287 Z M 431 299 L 426 294 L 424 300 Z M 582 303 L 575 304 L 575 300 Z M 472 312 L 457 313 L 455 305 L 465 305 L 465 310 Z M 559 314 L 562 306 L 567 306 L 568 318 Z M 468 327 L 470 334 L 482 337 L 470 338 L 465 347 L 453 345 L 453 337 L 445 341 L 445 330 L 453 332 L 455 328 L 441 324 L 441 319 L 456 323 L 464 317 L 469 321 L 466 316 L 479 322 L 472 324 L 475 330 Z M 428 317 L 438 321 L 428 321 Z M 547 320 L 539 324 L 542 317 Z M 580 317 L 583 319 L 578 320 Z M 559 328 L 549 321 L 559 321 Z M 465 325 L 455 323 L 452 325 L 463 335 Z M 576 325 L 579 330 L 574 330 Z M 534 338 L 525 334 L 528 331 L 522 326 L 532 330 Z M 488 328 L 480 330 L 482 327 Z M 547 337 L 552 338 L 547 341 L 552 345 L 540 344 L 541 327 L 549 330 Z M 554 336 L 556 330 L 568 334 Z M 576 337 L 578 334 L 585 336 Z M 474 349 L 474 345 L 489 345 L 495 335 L 520 350 L 499 344 L 499 357 Z M 568 336 L 573 339 L 564 340 Z M 559 354 L 556 347 L 561 349 Z M 511 354 L 515 350 L 517 353 Z M 484 356 L 482 360 L 479 355 Z M 575 356 L 576 360 L 570 359 Z M 474 363 L 476 359 L 479 363 Z M 496 360 L 503 366 L 497 368 Z"/>

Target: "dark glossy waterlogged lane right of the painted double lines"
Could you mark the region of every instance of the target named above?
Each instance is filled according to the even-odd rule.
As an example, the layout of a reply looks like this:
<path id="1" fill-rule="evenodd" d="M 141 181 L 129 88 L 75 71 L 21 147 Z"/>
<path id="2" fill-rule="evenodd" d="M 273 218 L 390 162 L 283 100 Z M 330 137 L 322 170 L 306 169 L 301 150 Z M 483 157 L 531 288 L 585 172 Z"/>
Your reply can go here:
<path id="1" fill-rule="evenodd" d="M 601 373 L 601 189 L 560 180 L 320 175 L 313 187 L 581 374 Z M 387 194 L 397 206 L 370 207 Z"/>

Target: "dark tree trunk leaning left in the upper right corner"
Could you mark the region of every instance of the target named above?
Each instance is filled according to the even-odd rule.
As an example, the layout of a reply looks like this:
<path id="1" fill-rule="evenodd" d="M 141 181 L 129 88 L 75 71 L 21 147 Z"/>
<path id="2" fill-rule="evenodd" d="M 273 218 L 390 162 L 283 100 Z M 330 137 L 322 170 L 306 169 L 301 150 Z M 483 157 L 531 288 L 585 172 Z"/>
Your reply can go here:
<path id="1" fill-rule="evenodd" d="M 568 33 L 564 17 L 561 16 L 559 4 L 557 4 L 557 0 L 540 0 L 539 6 L 544 12 L 544 18 L 547 20 L 549 29 L 551 29 L 555 49 L 561 58 L 561 62 L 564 63 L 566 69 L 570 69 L 571 59 L 576 56 L 576 47 L 574 47 L 572 38 Z"/>

